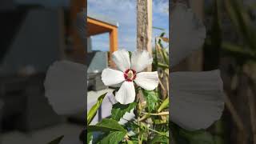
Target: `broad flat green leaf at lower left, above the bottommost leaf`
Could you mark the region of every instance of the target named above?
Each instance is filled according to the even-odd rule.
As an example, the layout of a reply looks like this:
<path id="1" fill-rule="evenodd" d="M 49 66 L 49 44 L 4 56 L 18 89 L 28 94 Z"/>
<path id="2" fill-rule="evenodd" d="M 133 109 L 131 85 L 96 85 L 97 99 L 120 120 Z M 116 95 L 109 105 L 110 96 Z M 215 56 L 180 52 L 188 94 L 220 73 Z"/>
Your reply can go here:
<path id="1" fill-rule="evenodd" d="M 119 125 L 117 121 L 109 118 L 103 118 L 102 121 L 98 122 L 96 125 L 88 126 L 88 131 L 122 131 L 127 133 L 127 131 L 121 125 Z"/>

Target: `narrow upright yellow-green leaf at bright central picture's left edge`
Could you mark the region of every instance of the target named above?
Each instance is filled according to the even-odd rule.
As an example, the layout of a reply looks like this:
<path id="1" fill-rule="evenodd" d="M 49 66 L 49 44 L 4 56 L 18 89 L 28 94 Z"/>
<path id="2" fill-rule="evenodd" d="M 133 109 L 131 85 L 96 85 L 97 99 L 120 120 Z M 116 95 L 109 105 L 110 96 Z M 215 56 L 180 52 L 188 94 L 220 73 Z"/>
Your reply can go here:
<path id="1" fill-rule="evenodd" d="M 87 126 L 90 124 L 90 122 L 94 119 L 97 110 L 99 106 L 101 106 L 103 99 L 105 98 L 107 93 L 102 94 L 100 97 L 98 97 L 98 101 L 90 108 L 89 113 L 87 114 Z"/>

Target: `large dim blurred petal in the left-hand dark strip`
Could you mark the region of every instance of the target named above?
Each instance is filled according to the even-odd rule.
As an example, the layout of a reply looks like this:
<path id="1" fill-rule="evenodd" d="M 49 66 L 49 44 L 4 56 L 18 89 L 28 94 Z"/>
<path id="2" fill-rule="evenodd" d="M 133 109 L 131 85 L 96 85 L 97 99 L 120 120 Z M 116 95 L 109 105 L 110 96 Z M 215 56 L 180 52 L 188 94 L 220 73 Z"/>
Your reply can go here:
<path id="1" fill-rule="evenodd" d="M 86 66 L 69 61 L 54 62 L 46 73 L 45 95 L 57 114 L 86 109 Z"/>

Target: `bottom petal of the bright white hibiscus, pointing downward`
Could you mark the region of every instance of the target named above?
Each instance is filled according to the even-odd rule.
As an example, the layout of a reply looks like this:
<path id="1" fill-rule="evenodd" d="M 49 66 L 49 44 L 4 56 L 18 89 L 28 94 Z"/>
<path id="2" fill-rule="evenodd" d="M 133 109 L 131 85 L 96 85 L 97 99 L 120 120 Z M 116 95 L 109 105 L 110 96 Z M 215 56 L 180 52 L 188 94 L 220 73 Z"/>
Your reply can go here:
<path id="1" fill-rule="evenodd" d="M 115 98 L 118 102 L 123 105 L 129 104 L 134 102 L 135 100 L 135 89 L 134 89 L 134 82 L 123 82 L 122 86 L 118 90 Z"/>

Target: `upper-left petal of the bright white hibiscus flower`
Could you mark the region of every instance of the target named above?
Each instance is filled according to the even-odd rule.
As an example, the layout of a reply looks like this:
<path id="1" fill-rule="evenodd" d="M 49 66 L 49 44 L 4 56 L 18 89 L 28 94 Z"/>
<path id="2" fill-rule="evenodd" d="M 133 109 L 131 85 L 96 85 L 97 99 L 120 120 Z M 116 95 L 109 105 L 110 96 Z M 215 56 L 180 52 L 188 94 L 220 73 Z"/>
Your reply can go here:
<path id="1" fill-rule="evenodd" d="M 127 50 L 117 50 L 113 53 L 112 59 L 122 72 L 130 69 L 130 57 Z"/>

